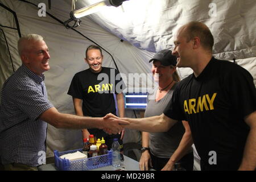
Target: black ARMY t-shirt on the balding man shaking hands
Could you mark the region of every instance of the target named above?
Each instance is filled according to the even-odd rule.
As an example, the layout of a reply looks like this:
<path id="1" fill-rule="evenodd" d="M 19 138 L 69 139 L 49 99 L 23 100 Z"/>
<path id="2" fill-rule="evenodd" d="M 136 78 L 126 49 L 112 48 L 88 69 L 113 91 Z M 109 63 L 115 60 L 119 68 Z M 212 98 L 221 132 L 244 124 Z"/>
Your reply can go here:
<path id="1" fill-rule="evenodd" d="M 249 133 L 243 118 L 256 110 L 255 101 L 250 73 L 213 57 L 198 77 L 179 82 L 164 114 L 188 121 L 201 167 L 236 170 Z"/>

